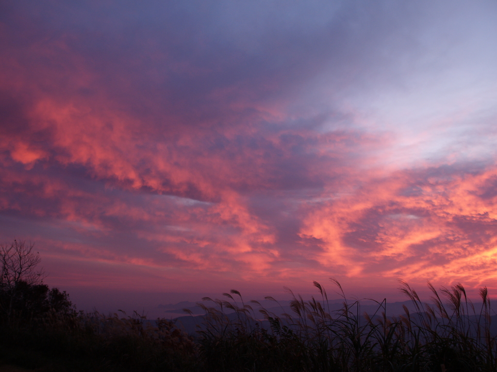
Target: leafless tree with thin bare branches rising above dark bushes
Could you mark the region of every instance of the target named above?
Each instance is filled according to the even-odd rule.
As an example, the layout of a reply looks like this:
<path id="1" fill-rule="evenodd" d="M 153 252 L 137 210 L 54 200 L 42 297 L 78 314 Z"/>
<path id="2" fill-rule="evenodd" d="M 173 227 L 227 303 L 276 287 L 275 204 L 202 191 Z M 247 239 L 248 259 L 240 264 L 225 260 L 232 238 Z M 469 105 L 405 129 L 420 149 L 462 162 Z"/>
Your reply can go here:
<path id="1" fill-rule="evenodd" d="M 33 248 L 33 243 L 16 240 L 9 245 L 0 245 L 0 289 L 11 290 L 20 281 L 29 285 L 41 284 L 43 272 L 36 269 L 41 259 Z"/>

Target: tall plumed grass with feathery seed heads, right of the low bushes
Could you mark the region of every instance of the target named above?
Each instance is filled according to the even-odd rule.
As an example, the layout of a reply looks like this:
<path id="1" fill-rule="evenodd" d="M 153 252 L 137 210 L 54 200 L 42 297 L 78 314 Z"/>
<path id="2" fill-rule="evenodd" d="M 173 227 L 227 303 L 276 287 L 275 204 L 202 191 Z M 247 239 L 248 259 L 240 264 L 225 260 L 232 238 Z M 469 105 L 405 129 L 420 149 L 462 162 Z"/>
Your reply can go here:
<path id="1" fill-rule="evenodd" d="M 481 302 L 473 304 L 461 284 L 436 291 L 428 283 L 431 304 L 425 304 L 401 282 L 400 290 L 416 310 L 404 307 L 404 314 L 388 317 L 386 299 L 376 302 L 375 313 L 361 313 L 360 302 L 348 302 L 340 284 L 331 280 L 343 298 L 336 311 L 317 282 L 318 299 L 304 301 L 289 291 L 292 313 L 280 316 L 256 301 L 246 304 L 238 291 L 224 294 L 228 300 L 205 298 L 212 305 L 199 304 L 205 311 L 199 342 L 206 370 L 497 371 L 486 288 L 480 291 Z M 261 326 L 261 317 L 268 326 Z"/>

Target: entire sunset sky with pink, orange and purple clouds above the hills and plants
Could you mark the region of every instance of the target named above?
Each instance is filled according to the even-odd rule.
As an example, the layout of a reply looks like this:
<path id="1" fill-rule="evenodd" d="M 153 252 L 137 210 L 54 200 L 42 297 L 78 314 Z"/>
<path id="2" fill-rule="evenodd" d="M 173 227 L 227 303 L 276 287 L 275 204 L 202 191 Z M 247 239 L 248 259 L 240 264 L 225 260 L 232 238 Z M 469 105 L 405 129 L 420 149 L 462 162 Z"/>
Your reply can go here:
<path id="1" fill-rule="evenodd" d="M 330 277 L 492 294 L 496 17 L 490 0 L 1 1 L 0 240 L 34 242 L 86 306 Z"/>

